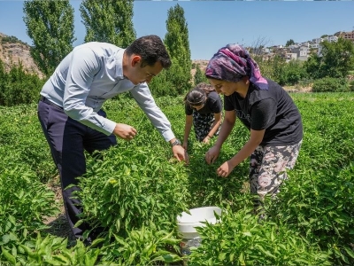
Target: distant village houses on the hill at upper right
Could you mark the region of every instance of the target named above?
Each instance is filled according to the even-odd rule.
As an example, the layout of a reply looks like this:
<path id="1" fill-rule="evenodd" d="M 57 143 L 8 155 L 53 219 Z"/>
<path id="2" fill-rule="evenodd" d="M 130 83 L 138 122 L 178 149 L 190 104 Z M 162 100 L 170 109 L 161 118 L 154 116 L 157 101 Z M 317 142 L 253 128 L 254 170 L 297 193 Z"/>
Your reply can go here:
<path id="1" fill-rule="evenodd" d="M 274 55 L 280 55 L 287 62 L 291 59 L 297 60 L 307 60 L 312 52 L 317 52 L 318 54 L 321 51 L 321 43 L 324 41 L 334 43 L 338 41 L 338 38 L 342 37 L 343 39 L 350 40 L 354 43 L 354 30 L 350 32 L 337 32 L 334 35 L 323 35 L 320 38 L 312 39 L 312 41 L 304 43 L 293 43 L 289 46 L 283 45 L 274 45 L 271 47 L 264 47 L 261 50 L 261 53 L 266 57 L 273 57 Z M 257 51 L 253 51 L 258 53 Z"/>

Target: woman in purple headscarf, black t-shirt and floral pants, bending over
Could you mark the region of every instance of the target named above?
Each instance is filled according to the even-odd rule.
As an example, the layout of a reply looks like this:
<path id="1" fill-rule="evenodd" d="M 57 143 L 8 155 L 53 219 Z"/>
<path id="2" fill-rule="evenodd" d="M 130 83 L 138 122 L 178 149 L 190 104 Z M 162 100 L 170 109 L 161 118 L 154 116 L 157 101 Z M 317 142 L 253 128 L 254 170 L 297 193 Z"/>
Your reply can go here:
<path id="1" fill-rule="evenodd" d="M 287 178 L 286 170 L 295 165 L 303 139 L 301 115 L 292 98 L 279 84 L 262 77 L 258 64 L 238 44 L 219 49 L 205 75 L 225 101 L 219 137 L 205 160 L 211 164 L 217 159 L 237 117 L 250 130 L 250 139 L 217 169 L 218 176 L 228 176 L 250 156 L 250 192 L 261 199 L 276 194 Z"/>

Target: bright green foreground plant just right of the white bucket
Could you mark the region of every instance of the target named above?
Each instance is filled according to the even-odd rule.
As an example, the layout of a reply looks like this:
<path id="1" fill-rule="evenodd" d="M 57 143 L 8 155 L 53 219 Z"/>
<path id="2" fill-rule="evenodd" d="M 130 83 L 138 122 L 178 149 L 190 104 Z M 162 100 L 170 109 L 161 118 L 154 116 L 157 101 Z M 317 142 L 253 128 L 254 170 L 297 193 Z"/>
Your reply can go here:
<path id="1" fill-rule="evenodd" d="M 224 211 L 221 223 L 200 227 L 202 246 L 189 265 L 331 265 L 328 253 L 288 227 L 258 223 L 251 210 Z"/>

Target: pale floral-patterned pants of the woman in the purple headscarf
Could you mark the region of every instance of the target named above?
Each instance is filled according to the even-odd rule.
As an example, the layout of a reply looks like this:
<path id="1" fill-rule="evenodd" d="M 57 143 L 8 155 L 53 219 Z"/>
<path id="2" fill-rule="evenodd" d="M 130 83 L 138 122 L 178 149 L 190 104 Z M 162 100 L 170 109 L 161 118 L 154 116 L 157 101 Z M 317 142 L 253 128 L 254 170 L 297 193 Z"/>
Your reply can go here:
<path id="1" fill-rule="evenodd" d="M 302 140 L 296 145 L 259 145 L 250 155 L 250 192 L 261 199 L 275 196 L 287 179 L 287 169 L 294 168 Z"/>

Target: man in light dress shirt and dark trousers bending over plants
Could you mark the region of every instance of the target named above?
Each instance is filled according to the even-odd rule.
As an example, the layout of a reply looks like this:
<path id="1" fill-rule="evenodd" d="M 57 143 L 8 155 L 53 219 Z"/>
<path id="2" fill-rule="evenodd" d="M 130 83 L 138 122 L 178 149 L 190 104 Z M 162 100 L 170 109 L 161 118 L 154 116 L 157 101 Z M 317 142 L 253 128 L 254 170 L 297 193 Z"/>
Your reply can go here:
<path id="1" fill-rule="evenodd" d="M 142 36 L 127 49 L 111 43 L 84 43 L 61 61 L 44 84 L 38 117 L 58 167 L 65 213 L 76 238 L 89 229 L 77 215 L 79 200 L 72 193 L 79 188 L 76 177 L 86 172 L 84 150 L 89 153 L 116 145 L 116 137 L 131 140 L 136 129 L 106 118 L 104 101 L 130 91 L 151 123 L 172 145 L 177 160 L 189 162 L 188 153 L 174 136 L 171 123 L 152 98 L 148 82 L 163 68 L 171 66 L 165 45 L 157 35 Z"/>

